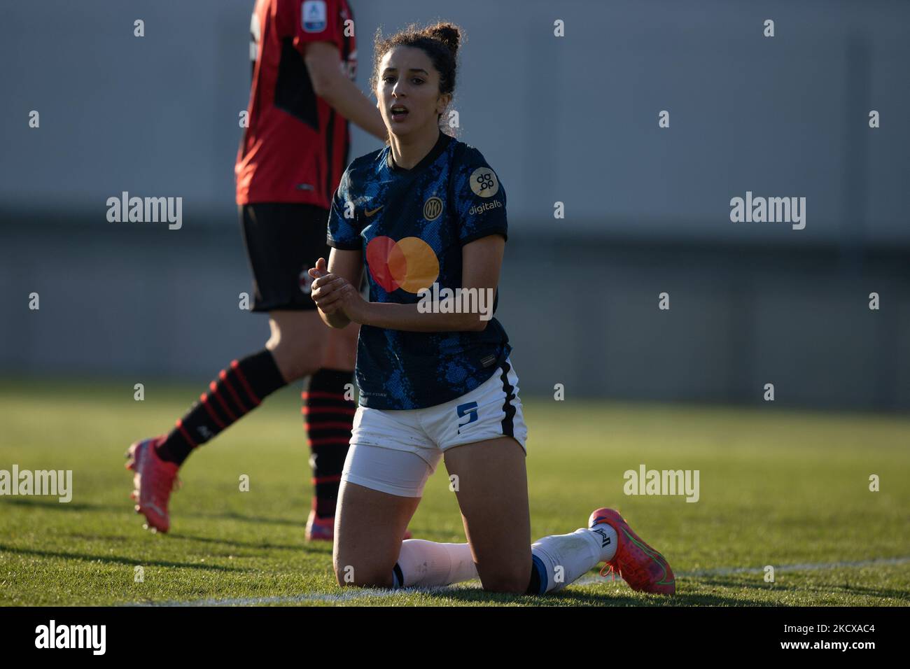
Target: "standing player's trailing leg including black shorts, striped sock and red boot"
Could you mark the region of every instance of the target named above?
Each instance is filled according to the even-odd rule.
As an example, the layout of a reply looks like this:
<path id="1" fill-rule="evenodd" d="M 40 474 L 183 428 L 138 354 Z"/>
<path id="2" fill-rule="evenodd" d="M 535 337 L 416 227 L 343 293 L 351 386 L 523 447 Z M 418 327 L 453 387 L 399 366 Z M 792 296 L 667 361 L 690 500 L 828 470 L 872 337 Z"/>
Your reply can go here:
<path id="1" fill-rule="evenodd" d="M 319 370 L 326 354 L 329 328 L 319 319 L 303 278 L 308 257 L 324 255 L 328 212 L 264 203 L 241 207 L 239 214 L 253 271 L 253 311 L 268 312 L 271 336 L 265 349 L 221 370 L 170 433 L 137 441 L 127 451 L 126 467 L 135 471 L 136 512 L 159 532 L 170 526 L 170 493 L 189 454 L 275 390 Z"/>

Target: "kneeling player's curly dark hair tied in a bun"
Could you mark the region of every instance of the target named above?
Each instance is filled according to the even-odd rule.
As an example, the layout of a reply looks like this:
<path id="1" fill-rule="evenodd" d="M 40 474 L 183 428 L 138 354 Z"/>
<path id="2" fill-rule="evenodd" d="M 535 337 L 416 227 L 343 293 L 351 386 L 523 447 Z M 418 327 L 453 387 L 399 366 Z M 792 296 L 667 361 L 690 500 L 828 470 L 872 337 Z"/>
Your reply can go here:
<path id="1" fill-rule="evenodd" d="M 423 49 L 430 56 L 430 62 L 440 73 L 440 95 L 455 93 L 455 75 L 458 69 L 458 51 L 464 42 L 464 30 L 449 22 L 432 25 L 410 24 L 389 37 L 382 36 L 382 28 L 376 30 L 376 47 L 373 50 L 373 74 L 369 88 L 373 92 L 379 85 L 379 64 L 389 49 L 395 46 L 414 46 Z M 440 119 L 442 115 L 440 114 Z"/>

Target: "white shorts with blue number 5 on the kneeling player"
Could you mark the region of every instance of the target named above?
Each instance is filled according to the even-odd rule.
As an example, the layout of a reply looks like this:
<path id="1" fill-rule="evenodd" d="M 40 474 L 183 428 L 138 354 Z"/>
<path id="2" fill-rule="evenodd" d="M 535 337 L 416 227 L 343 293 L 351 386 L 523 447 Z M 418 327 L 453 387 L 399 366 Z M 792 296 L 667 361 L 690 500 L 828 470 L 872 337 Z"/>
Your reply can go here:
<path id="1" fill-rule="evenodd" d="M 480 386 L 442 404 L 408 411 L 358 407 L 341 480 L 420 497 L 445 451 L 503 435 L 525 448 L 518 375 L 508 358 Z"/>

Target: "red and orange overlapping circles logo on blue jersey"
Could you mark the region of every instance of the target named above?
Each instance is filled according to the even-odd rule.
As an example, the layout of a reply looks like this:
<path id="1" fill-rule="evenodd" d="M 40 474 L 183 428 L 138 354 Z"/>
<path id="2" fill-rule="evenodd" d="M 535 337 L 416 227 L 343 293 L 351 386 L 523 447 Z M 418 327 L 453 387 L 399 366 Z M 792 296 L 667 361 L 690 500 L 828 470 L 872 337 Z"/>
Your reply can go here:
<path id="1" fill-rule="evenodd" d="M 440 261 L 430 245 L 419 237 L 395 241 L 385 235 L 367 244 L 369 274 L 387 293 L 402 289 L 417 295 L 440 276 Z"/>

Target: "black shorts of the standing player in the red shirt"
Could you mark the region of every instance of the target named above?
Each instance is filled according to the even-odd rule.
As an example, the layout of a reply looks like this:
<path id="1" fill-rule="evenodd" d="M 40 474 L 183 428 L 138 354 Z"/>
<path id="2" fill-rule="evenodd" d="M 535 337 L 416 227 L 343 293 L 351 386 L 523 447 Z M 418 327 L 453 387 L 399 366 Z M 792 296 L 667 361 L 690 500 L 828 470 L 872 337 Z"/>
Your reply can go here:
<path id="1" fill-rule="evenodd" d="M 258 202 L 239 208 L 253 270 L 253 311 L 316 309 L 308 269 L 329 260 L 329 211 L 296 202 Z"/>

